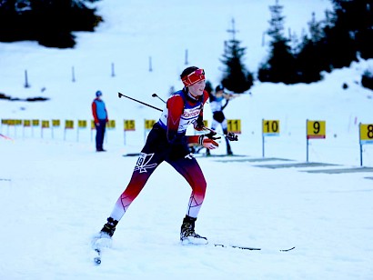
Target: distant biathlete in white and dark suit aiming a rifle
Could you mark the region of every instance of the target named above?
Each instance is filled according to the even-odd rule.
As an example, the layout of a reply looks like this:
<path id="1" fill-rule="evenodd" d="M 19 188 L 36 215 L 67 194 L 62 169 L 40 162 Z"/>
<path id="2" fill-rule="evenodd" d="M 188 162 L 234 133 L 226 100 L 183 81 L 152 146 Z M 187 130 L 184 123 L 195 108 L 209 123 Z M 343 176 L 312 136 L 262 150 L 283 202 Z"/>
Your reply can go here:
<path id="1" fill-rule="evenodd" d="M 210 98 L 210 108 L 213 113 L 213 120 L 211 129 L 216 130 L 217 125 L 221 125 L 223 133 L 227 135 L 227 119 L 223 113 L 223 110 L 227 107 L 229 100 L 233 97 L 233 95 L 227 95 L 224 92 L 223 85 L 217 85 L 215 89 L 215 94 L 211 93 L 209 95 Z M 223 100 L 226 100 L 226 104 L 223 105 Z M 230 148 L 229 140 L 226 137 L 227 143 L 227 155 L 233 155 L 232 149 Z M 210 151 L 207 149 L 207 155 L 210 155 Z"/>

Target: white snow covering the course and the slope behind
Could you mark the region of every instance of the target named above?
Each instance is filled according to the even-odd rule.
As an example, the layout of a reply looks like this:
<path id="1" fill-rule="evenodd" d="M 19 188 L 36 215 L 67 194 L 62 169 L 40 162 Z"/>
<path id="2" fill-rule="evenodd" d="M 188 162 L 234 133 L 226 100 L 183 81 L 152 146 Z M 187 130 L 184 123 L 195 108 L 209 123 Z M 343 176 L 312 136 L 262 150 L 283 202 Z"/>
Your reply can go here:
<path id="1" fill-rule="evenodd" d="M 162 107 L 151 95 L 166 98 L 172 86 L 181 86 L 177 77 L 186 67 L 186 49 L 188 65 L 205 68 L 207 79 L 217 85 L 232 17 L 237 38 L 247 46 L 247 66 L 255 71 L 266 53 L 262 34 L 273 1 L 251 2 L 105 0 L 98 3 L 105 23 L 96 33 L 77 33 L 73 50 L 0 43 L 0 93 L 51 98 L 44 103 L 0 100 L 0 118 L 90 121 L 90 105 L 100 89 L 110 119 L 116 120 L 116 129 L 107 131 L 107 152 L 100 154 L 89 128 L 64 135 L 62 124 L 42 135 L 40 127 L 1 126 L 0 133 L 13 141 L 0 137 L 0 279 L 373 278 L 373 173 L 368 168 L 306 172 L 360 166 L 358 124 L 373 123 L 373 93 L 359 79 L 371 60 L 311 85 L 256 83 L 250 95 L 227 106 L 227 117 L 242 125 L 233 152 L 246 156 L 198 157 L 208 185 L 197 233 L 210 245 L 179 245 L 190 188 L 164 164 L 117 226 L 103 263 L 93 264 L 90 238 L 105 223 L 136 163 L 136 157 L 122 155 L 141 149 L 144 119 L 159 117 L 154 109 L 119 99 L 117 92 Z M 326 0 L 280 3 L 287 27 L 298 34 L 312 11 L 322 18 L 330 6 Z M 24 87 L 25 70 L 29 88 Z M 205 111 L 210 122 L 208 105 Z M 124 119 L 136 120 L 136 131 L 126 132 L 126 138 Z M 262 119 L 280 121 L 280 135 L 266 137 L 264 159 Z M 330 165 L 263 167 L 306 162 L 307 119 L 327 124 L 327 138 L 309 142 L 309 162 Z M 224 141 L 220 144 L 215 154 L 225 153 Z M 373 166 L 372 145 L 363 145 L 363 165 Z M 278 252 L 292 246 L 296 249 Z"/>

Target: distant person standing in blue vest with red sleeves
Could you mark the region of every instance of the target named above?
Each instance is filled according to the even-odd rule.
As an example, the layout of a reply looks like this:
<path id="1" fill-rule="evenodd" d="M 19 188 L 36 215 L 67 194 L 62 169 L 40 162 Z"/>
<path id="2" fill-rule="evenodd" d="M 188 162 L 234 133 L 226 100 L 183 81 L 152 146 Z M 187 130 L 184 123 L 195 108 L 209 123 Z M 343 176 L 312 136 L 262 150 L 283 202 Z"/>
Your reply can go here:
<path id="1" fill-rule="evenodd" d="M 92 102 L 92 114 L 95 119 L 96 126 L 96 152 L 106 152 L 104 150 L 104 135 L 106 123 L 108 122 L 107 110 L 105 102 L 101 99 L 102 92 L 96 91 L 96 98 Z"/>

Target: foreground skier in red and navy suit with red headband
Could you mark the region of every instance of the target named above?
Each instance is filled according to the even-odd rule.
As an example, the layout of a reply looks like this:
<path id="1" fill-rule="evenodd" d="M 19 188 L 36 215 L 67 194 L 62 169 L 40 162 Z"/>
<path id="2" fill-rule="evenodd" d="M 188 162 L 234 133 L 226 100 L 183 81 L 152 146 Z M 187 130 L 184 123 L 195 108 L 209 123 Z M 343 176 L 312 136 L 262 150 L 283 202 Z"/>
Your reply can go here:
<path id="1" fill-rule="evenodd" d="M 113 236 L 116 225 L 146 185 L 147 179 L 158 165 L 166 161 L 185 177 L 192 188 L 181 225 L 180 240 L 183 244 L 207 244 L 207 237 L 195 232 L 195 222 L 204 202 L 207 183 L 196 158 L 189 152 L 188 144 L 203 145 L 207 149 L 215 149 L 218 144 L 213 134 L 186 135 L 188 125 L 193 124 L 197 130 L 203 128 L 203 105 L 208 99 L 205 71 L 191 66 L 180 77 L 184 88 L 167 99 L 162 115 L 147 136 L 126 190 L 117 199 L 107 223 L 100 231 L 101 238 Z"/>

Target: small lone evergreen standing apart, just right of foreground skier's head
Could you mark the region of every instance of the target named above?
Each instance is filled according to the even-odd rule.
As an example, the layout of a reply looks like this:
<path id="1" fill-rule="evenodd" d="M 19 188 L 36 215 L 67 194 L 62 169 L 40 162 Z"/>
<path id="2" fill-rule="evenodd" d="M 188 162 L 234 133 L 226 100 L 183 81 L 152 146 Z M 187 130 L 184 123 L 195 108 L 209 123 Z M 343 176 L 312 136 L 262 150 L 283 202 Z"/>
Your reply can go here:
<path id="1" fill-rule="evenodd" d="M 227 42 L 223 59 L 221 59 L 221 62 L 226 65 L 221 84 L 227 90 L 242 94 L 253 85 L 253 75 L 242 63 L 246 47 L 241 47 L 240 41 L 235 38 L 237 31 L 234 19 L 232 19 L 232 29 L 228 32 L 232 33 L 233 38 Z"/>

